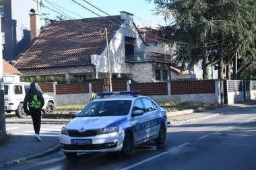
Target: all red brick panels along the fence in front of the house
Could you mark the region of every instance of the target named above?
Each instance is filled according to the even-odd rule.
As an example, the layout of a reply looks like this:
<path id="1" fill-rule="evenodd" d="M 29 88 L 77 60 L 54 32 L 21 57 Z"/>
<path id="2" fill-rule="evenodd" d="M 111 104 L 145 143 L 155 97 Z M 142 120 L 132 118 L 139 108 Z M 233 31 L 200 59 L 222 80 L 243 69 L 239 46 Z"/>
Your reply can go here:
<path id="1" fill-rule="evenodd" d="M 127 81 L 112 83 L 113 91 L 127 91 Z M 53 92 L 53 83 L 39 83 L 44 92 Z M 168 95 L 168 83 L 131 83 L 131 91 L 139 90 L 140 95 Z M 215 80 L 173 81 L 170 83 L 172 95 L 215 93 Z M 89 84 L 56 85 L 57 94 L 89 93 Z M 104 83 L 92 83 L 92 92 L 104 91 Z"/>

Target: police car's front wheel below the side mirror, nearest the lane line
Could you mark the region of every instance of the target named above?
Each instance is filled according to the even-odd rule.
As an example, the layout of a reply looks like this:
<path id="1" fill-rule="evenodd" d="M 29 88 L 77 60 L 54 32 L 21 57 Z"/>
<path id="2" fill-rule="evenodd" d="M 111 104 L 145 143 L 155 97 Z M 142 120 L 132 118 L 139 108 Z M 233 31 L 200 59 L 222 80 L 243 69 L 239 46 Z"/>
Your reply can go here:
<path id="1" fill-rule="evenodd" d="M 131 153 L 133 152 L 133 136 L 131 133 L 126 133 L 125 138 L 123 139 L 123 148 L 122 148 L 122 155 L 125 157 L 130 157 Z"/>

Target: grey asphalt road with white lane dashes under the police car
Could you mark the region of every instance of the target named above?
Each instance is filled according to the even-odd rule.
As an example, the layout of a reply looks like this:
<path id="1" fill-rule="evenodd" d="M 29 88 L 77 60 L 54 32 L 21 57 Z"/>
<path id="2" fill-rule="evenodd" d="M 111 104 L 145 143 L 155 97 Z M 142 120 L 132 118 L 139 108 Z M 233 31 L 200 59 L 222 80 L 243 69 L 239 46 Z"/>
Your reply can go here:
<path id="1" fill-rule="evenodd" d="M 256 169 L 255 120 L 255 106 L 232 110 L 168 126 L 164 146 L 148 143 L 135 148 L 129 158 L 94 153 L 67 159 L 58 151 L 3 169 Z"/>

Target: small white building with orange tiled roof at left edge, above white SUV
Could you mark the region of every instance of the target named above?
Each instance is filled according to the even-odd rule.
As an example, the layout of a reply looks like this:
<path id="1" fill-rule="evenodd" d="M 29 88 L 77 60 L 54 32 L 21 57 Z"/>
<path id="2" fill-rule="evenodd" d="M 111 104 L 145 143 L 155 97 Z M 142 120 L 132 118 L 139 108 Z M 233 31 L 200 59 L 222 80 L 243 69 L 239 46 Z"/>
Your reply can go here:
<path id="1" fill-rule="evenodd" d="M 3 82 L 19 82 L 22 73 L 3 60 Z"/>

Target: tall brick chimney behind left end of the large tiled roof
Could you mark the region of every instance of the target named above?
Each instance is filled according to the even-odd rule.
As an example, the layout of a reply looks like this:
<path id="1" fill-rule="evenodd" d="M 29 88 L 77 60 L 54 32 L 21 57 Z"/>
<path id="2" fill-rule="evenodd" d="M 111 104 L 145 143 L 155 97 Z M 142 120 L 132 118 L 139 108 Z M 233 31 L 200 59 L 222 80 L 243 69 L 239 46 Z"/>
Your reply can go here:
<path id="1" fill-rule="evenodd" d="M 38 37 L 40 34 L 40 15 L 38 13 L 30 13 L 30 40 Z"/>

